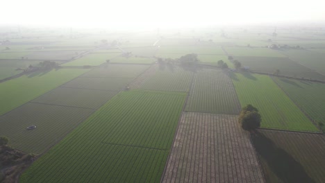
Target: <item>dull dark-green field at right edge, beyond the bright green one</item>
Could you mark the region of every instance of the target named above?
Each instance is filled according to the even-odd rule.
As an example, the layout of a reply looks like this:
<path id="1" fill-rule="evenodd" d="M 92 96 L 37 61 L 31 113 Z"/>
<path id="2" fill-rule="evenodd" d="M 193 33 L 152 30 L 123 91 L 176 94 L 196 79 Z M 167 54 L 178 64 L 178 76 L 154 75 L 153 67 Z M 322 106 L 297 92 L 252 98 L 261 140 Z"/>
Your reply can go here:
<path id="1" fill-rule="evenodd" d="M 234 57 L 234 59 L 240 61 L 242 66 L 249 67 L 252 71 L 274 74 L 278 69 L 280 71 L 278 74 L 281 76 L 325 80 L 325 76 L 322 74 L 288 58 Z"/>

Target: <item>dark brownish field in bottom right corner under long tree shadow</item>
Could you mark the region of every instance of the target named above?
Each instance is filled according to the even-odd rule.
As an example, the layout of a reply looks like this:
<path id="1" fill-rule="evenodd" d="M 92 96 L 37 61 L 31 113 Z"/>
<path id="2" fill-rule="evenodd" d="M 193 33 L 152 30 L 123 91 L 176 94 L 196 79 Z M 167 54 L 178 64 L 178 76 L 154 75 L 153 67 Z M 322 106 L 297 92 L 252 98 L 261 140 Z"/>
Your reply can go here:
<path id="1" fill-rule="evenodd" d="M 267 182 L 324 182 L 323 134 L 258 130 L 252 138 Z"/>

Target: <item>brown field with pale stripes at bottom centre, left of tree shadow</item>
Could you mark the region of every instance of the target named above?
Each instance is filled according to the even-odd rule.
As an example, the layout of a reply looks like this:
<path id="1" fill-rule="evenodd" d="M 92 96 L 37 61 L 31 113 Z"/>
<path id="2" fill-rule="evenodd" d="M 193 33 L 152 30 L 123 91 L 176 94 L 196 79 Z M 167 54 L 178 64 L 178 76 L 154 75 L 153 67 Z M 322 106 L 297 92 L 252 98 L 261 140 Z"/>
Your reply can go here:
<path id="1" fill-rule="evenodd" d="M 162 182 L 265 182 L 238 116 L 183 112 Z"/>

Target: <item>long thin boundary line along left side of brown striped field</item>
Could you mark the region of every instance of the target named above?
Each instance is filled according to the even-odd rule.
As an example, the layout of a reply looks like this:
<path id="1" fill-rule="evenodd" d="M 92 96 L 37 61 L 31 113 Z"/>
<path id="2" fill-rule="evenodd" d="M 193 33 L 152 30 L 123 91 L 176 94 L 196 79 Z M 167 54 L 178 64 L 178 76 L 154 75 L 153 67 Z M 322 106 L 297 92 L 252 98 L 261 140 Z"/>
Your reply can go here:
<path id="1" fill-rule="evenodd" d="M 193 86 L 193 83 L 194 83 L 194 77 L 195 77 L 195 75 L 196 75 L 196 73 L 194 73 L 194 74 L 192 75 L 190 89 L 188 90 L 188 92 L 186 92 L 186 93 L 187 93 L 187 96 L 186 96 L 186 98 L 185 98 L 185 101 L 184 101 L 184 104 L 183 104 L 183 107 L 182 107 L 181 116 L 179 116 L 179 119 L 178 119 L 177 128 L 176 128 L 175 133 L 174 133 L 174 138 L 173 138 L 173 141 L 172 141 L 172 145 L 171 145 L 171 147 L 169 148 L 168 157 L 167 157 L 167 159 L 166 159 L 166 163 L 165 163 L 165 167 L 164 167 L 163 174 L 162 174 L 161 177 L 160 177 L 160 182 L 163 182 L 163 179 L 164 179 L 164 177 L 165 177 L 165 173 L 166 173 L 166 171 L 167 171 L 167 164 L 168 164 L 168 162 L 169 162 L 170 155 L 172 154 L 172 149 L 173 149 L 174 142 L 175 142 L 175 139 L 176 139 L 176 136 L 177 136 L 178 128 L 179 128 L 179 125 L 181 124 L 181 120 L 182 120 L 182 118 L 183 118 L 183 113 L 184 113 L 184 110 L 185 110 L 186 105 L 187 105 L 187 103 L 188 103 L 188 98 L 189 98 L 189 96 L 190 96 L 190 92 L 191 92 L 191 89 L 192 89 L 192 86 Z"/>

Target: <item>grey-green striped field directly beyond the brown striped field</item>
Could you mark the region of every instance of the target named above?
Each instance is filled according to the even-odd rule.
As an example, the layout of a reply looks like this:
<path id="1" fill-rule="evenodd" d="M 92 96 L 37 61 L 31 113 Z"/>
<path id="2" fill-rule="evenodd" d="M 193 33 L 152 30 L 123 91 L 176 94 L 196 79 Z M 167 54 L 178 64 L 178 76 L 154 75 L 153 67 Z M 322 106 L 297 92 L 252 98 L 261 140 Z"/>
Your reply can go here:
<path id="1" fill-rule="evenodd" d="M 226 71 L 201 69 L 194 74 L 186 111 L 239 114 L 240 108 L 233 82 Z"/>

